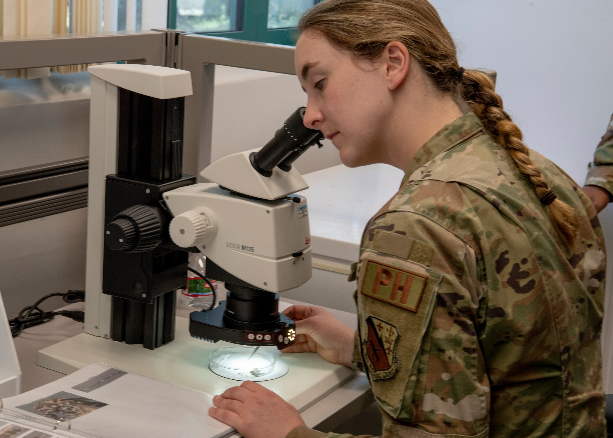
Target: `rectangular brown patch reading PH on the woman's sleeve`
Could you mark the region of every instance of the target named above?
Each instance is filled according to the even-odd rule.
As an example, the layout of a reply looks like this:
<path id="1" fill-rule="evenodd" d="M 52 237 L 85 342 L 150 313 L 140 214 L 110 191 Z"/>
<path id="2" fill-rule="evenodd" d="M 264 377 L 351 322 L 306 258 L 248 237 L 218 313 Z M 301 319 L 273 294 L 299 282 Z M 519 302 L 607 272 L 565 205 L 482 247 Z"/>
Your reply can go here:
<path id="1" fill-rule="evenodd" d="M 417 312 L 427 275 L 367 260 L 360 293 Z"/>

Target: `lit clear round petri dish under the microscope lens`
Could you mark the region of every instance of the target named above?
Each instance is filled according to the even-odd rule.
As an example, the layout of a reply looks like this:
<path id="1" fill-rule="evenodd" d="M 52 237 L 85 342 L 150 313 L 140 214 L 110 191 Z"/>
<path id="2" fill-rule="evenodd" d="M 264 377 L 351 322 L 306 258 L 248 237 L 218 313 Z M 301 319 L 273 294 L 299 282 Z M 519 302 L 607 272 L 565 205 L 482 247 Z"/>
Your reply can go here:
<path id="1" fill-rule="evenodd" d="M 275 370 L 276 356 L 256 347 L 223 347 L 211 355 L 209 367 L 215 374 L 234 380 L 254 380 L 264 378 Z M 249 358 L 251 356 L 251 358 Z M 264 380 L 264 379 L 262 379 Z"/>

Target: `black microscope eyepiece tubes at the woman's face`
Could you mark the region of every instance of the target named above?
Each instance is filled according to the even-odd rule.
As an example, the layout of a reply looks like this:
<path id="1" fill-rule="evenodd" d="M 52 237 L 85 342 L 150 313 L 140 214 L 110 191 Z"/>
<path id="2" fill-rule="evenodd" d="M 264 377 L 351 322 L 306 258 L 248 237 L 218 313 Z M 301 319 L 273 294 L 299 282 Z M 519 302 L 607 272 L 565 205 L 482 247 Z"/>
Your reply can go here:
<path id="1" fill-rule="evenodd" d="M 305 107 L 295 110 L 283 123 L 283 128 L 276 131 L 275 136 L 251 156 L 251 164 L 262 175 L 272 175 L 272 169 L 287 158 L 292 158 L 289 161 L 291 166 L 291 163 L 314 143 L 314 139 L 319 139 L 319 129 L 310 129 L 303 125 L 304 113 Z M 295 153 L 297 155 L 294 155 Z"/>

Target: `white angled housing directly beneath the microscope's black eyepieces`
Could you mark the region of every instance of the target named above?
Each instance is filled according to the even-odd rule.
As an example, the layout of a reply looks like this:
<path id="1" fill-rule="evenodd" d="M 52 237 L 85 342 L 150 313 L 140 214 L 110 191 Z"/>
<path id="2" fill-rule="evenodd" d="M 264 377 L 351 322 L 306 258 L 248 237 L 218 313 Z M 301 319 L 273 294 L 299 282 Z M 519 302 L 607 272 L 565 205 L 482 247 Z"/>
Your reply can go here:
<path id="1" fill-rule="evenodd" d="M 289 172 L 275 167 L 270 177 L 259 174 L 249 161 L 249 155 L 257 151 L 259 148 L 224 156 L 207 166 L 200 176 L 237 193 L 261 199 L 279 199 L 308 188 L 295 167 Z"/>

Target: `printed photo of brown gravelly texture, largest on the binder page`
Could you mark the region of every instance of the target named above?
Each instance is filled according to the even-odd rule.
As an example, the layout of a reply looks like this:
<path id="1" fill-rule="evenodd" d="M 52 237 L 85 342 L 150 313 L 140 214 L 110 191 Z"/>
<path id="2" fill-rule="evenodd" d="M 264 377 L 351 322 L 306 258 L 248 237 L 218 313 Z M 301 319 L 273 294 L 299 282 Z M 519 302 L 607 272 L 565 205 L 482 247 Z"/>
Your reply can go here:
<path id="1" fill-rule="evenodd" d="M 36 415 L 51 418 L 51 420 L 59 420 L 60 418 L 74 420 L 74 418 L 82 417 L 86 413 L 93 412 L 106 405 L 106 403 L 61 391 L 44 399 L 17 407 L 36 413 Z M 0 438 L 4 437 L 0 436 Z"/>

